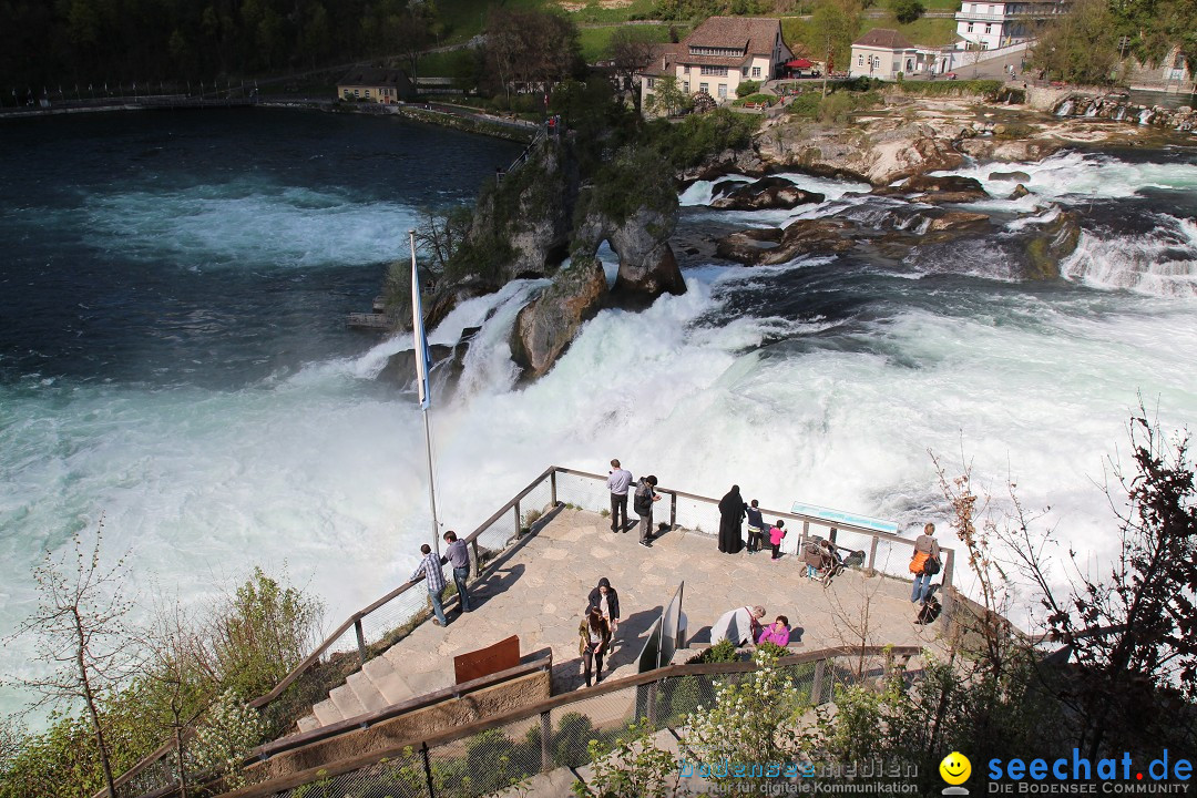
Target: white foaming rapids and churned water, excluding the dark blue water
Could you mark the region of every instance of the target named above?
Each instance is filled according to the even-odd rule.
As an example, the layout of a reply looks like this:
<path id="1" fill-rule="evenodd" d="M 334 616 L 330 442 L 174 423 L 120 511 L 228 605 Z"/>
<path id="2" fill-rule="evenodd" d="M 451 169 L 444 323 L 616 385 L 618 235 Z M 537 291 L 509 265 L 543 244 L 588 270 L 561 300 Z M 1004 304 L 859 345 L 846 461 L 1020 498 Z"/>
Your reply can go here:
<path id="1" fill-rule="evenodd" d="M 1197 167 L 1080 156 L 1009 169 L 1031 173 L 1041 214 L 1078 193 L 1130 197 L 1143 185 L 1197 185 Z M 998 170 L 960 173 L 994 184 L 990 171 Z M 845 203 L 853 200 L 844 193 L 859 188 L 802 179 Z M 701 184 L 682 199 L 701 205 L 709 195 Z M 265 268 L 267 252 L 281 252 L 277 268 L 287 269 L 330 252 L 346 262 L 395 255 L 394 240 L 376 244 L 339 227 L 338 197 L 308 199 L 324 226 L 314 229 L 294 201 L 254 195 L 220 197 L 217 215 L 213 200 L 194 194 L 172 200 L 170 220 L 139 215 L 147 205 L 139 196 L 109 197 L 90 213 L 104 234 L 105 213 L 133 208 L 128 245 L 146 257 L 154 246 L 183 246 L 236 263 L 248 251 L 259 254 L 254 268 Z M 755 223 L 807 212 L 765 212 Z M 366 206 L 369 219 L 389 227 L 412 213 Z M 229 221 L 241 214 L 255 224 Z M 1156 237 L 1141 250 L 1086 233 L 1065 270 L 1098 291 L 1044 297 L 1011 286 L 983 312 L 961 315 L 950 293 L 941 307 L 926 287 L 919 291 L 930 304 L 840 333 L 826 319 L 771 316 L 767 303 L 711 321 L 739 293 L 830 258 L 706 266 L 687 273 L 685 296 L 643 312 L 600 312 L 529 385 L 517 382 L 508 340 L 518 309 L 545 282 L 511 284 L 464 303 L 430 336 L 451 343 L 482 325 L 458 392 L 433 409 L 443 520 L 469 531 L 548 464 L 603 471 L 619 457 L 666 486 L 718 497 L 737 482 L 766 506 L 802 500 L 911 530 L 944 520 L 930 449 L 949 468 L 962 451 L 996 493 L 1009 474 L 1026 506 L 1051 507 L 1046 523 L 1063 541 L 1083 556 L 1107 556 L 1116 526 L 1094 482 L 1105 458 L 1125 451 L 1138 397 L 1159 408 L 1167 430 L 1197 419 L 1197 373 L 1191 357 L 1178 357 L 1197 340 L 1197 301 L 1161 287 L 1163 275 L 1193 279 L 1197 229 L 1177 217 L 1161 230 L 1168 243 Z M 121 237 L 114 230 L 108 245 Z M 1172 260 L 1161 262 L 1153 245 Z M 911 285 L 919 278 L 906 276 Z M 1140 293 L 1116 291 L 1124 287 Z M 828 335 L 839 336 L 837 346 L 806 345 Z M 423 426 L 411 397 L 373 377 L 409 346 L 402 337 L 363 345 L 358 355 L 227 391 L 55 380 L 8 389 L 0 518 L 6 532 L 19 532 L 0 537 L 0 628 L 30 609 L 38 552 L 60 548 L 101 513 L 109 553 L 130 550 L 142 596 L 177 591 L 195 602 L 254 564 L 277 572 L 285 562 L 327 599 L 335 626 L 406 579 L 430 525 Z M 26 651 L 6 647 L 0 670 L 20 671 Z"/>

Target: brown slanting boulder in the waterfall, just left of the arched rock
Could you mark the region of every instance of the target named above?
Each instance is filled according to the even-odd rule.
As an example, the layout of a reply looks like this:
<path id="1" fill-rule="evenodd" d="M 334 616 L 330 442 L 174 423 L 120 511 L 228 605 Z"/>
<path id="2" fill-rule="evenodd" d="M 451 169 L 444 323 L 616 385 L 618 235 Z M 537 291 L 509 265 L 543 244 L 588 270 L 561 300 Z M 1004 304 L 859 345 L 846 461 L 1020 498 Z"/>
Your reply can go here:
<path id="1" fill-rule="evenodd" d="M 598 312 L 606 294 L 602 263 L 575 256 L 553 285 L 519 311 L 511 331 L 511 358 L 523 367 L 524 379 L 548 372 L 578 328 Z"/>

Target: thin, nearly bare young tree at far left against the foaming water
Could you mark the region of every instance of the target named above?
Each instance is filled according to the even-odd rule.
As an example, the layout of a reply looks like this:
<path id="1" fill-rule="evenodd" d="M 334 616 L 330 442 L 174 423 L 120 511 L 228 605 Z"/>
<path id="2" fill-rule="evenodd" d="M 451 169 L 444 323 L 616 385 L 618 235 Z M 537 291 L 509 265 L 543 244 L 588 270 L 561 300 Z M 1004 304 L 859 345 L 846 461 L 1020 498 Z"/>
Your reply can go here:
<path id="1" fill-rule="evenodd" d="M 124 598 L 128 569 L 123 560 L 101 566 L 104 520 L 87 547 L 81 535 L 72 538 L 73 556 L 47 552 L 34 568 L 37 609 L 18 627 L 16 635 L 34 638 L 37 658 L 53 671 L 47 676 L 17 680 L 41 695 L 35 706 L 81 701 L 99 755 L 108 794 L 115 796 L 111 749 L 105 739 L 101 695 L 119 689 L 130 674 L 133 654 L 124 616 L 132 602 Z M 14 635 L 14 636 L 16 636 Z"/>

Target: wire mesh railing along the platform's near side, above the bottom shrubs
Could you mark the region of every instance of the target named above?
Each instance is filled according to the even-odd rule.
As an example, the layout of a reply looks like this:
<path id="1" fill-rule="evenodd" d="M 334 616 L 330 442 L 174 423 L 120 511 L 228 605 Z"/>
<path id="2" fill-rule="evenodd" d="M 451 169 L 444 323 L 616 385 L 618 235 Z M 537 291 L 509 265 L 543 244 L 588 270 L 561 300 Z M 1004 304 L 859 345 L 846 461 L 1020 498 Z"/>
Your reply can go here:
<path id="1" fill-rule="evenodd" d="M 916 678 L 919 671 L 909 665 L 920 652 L 916 646 L 827 648 L 783 657 L 776 668 L 806 705 L 819 706 L 834 700 L 837 687 L 885 678 L 894 670 Z M 752 662 L 673 665 L 266 779 L 225 793 L 225 798 L 480 798 L 540 773 L 588 765 L 591 741 L 609 750 L 633 723 L 682 737 L 675 727 L 699 707 L 712 706 L 717 687 L 747 678 L 755 670 Z M 699 759 L 692 754 L 689 759 Z"/>

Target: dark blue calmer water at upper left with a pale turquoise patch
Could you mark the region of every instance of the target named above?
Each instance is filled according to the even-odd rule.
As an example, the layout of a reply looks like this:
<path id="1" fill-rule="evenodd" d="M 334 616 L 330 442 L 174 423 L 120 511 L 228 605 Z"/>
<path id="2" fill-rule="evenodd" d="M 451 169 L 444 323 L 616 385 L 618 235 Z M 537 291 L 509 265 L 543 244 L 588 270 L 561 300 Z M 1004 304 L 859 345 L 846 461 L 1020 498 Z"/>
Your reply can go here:
<path id="1" fill-rule="evenodd" d="M 0 380 L 238 385 L 361 347 L 420 208 L 519 145 L 311 111 L 0 127 Z"/>

